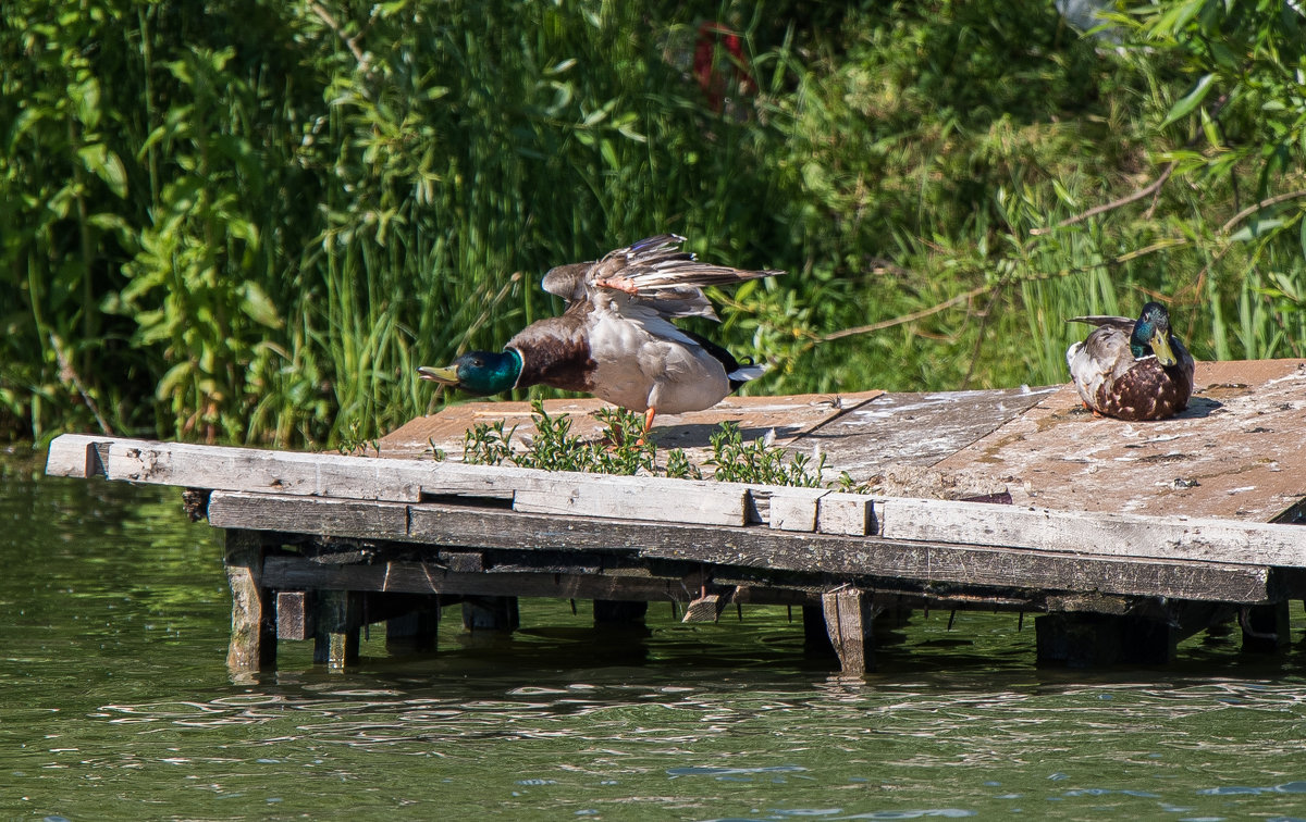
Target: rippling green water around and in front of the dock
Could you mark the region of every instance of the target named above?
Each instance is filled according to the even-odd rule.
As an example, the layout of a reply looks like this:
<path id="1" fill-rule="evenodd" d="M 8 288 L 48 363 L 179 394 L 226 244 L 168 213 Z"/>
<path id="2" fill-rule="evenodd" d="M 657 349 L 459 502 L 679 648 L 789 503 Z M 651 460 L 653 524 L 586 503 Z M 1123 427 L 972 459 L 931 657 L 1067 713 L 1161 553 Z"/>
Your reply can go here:
<path id="1" fill-rule="evenodd" d="M 524 601 L 436 656 L 225 669 L 217 534 L 171 489 L 0 457 L 0 818 L 1306 819 L 1306 648 L 1036 669 L 1012 616 L 916 616 L 865 681 L 784 608 L 643 642 Z M 1299 607 L 1294 638 L 1302 635 Z"/>

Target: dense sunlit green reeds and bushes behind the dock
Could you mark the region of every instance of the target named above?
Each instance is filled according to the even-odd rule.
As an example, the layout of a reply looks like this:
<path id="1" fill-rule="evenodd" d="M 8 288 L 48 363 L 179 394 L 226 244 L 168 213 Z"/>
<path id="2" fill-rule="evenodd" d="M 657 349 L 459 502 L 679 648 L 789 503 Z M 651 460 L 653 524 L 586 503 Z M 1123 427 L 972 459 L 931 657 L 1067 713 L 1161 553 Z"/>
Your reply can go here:
<path id="1" fill-rule="evenodd" d="M 667 230 L 790 271 L 717 295 L 754 391 L 1059 382 L 1148 296 L 1301 356 L 1299 9 L 4 4 L 0 437 L 359 441 Z"/>

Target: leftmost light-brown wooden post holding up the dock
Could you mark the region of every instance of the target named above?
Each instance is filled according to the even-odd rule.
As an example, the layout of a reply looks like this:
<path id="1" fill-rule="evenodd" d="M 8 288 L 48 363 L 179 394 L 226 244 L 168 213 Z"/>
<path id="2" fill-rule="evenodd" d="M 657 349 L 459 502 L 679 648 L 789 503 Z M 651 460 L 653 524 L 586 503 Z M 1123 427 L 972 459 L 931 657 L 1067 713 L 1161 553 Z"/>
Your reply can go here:
<path id="1" fill-rule="evenodd" d="M 263 561 L 268 549 L 257 531 L 227 528 L 223 564 L 231 585 L 231 645 L 227 671 L 255 673 L 277 664 L 276 608 L 263 587 Z"/>

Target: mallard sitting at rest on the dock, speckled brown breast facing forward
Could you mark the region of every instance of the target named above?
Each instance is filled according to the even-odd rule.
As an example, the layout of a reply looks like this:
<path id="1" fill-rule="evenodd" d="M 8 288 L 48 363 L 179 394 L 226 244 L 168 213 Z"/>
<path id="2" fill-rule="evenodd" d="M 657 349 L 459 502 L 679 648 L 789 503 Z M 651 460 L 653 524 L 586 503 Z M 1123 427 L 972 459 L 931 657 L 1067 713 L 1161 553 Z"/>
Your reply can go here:
<path id="1" fill-rule="evenodd" d="M 1170 314 L 1148 303 L 1138 320 L 1075 317 L 1097 327 L 1066 352 L 1084 407 L 1122 420 L 1160 420 L 1188 406 L 1192 356 L 1170 331 Z"/>

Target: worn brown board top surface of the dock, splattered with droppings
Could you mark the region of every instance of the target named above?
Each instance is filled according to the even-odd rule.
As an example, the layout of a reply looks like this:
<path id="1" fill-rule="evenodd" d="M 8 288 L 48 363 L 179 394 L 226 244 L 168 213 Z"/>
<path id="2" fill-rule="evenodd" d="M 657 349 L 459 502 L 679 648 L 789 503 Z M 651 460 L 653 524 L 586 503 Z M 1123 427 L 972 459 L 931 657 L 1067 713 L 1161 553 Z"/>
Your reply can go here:
<path id="1" fill-rule="evenodd" d="M 573 432 L 597 436 L 594 399 L 549 401 Z M 381 438 L 383 457 L 431 444 L 451 459 L 477 423 L 533 432 L 529 403 L 471 402 L 422 416 Z M 1067 511 L 1272 522 L 1306 498 L 1306 360 L 1199 363 L 1188 408 L 1126 423 L 1085 412 L 1072 385 L 929 394 L 731 397 L 708 411 L 660 416 L 660 448 L 701 462 L 724 420 L 746 438 L 825 454 L 828 479 L 848 471 L 888 496 L 968 498 L 1007 493 L 1017 505 Z"/>

